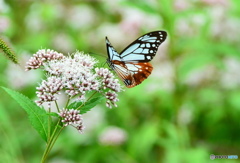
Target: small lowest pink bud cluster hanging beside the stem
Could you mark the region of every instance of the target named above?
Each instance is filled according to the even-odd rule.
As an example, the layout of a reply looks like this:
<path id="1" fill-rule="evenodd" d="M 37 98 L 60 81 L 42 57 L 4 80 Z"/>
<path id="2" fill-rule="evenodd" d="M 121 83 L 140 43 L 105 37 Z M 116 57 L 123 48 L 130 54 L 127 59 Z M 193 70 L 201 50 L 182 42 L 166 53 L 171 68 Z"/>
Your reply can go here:
<path id="1" fill-rule="evenodd" d="M 63 109 L 58 114 L 60 117 L 62 117 L 62 123 L 64 124 L 64 126 L 72 125 L 80 133 L 83 133 L 84 126 L 82 124 L 82 115 L 80 114 L 79 110 Z"/>

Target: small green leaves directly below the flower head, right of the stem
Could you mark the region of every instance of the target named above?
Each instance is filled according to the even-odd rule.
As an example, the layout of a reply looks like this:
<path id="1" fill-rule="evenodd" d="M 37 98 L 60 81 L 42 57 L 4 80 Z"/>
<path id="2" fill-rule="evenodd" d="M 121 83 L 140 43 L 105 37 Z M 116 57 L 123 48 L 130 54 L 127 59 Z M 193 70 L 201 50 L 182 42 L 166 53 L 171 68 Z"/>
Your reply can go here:
<path id="1" fill-rule="evenodd" d="M 102 100 L 103 100 L 103 96 L 99 96 L 96 98 L 93 98 L 89 101 L 87 101 L 86 103 L 84 103 L 84 105 L 80 108 L 80 113 L 84 114 L 88 111 L 90 111 L 94 106 L 96 106 L 97 104 L 99 104 Z M 71 103 L 67 108 L 68 109 L 77 109 L 78 107 L 80 107 L 83 103 L 82 102 L 73 102 Z"/>

